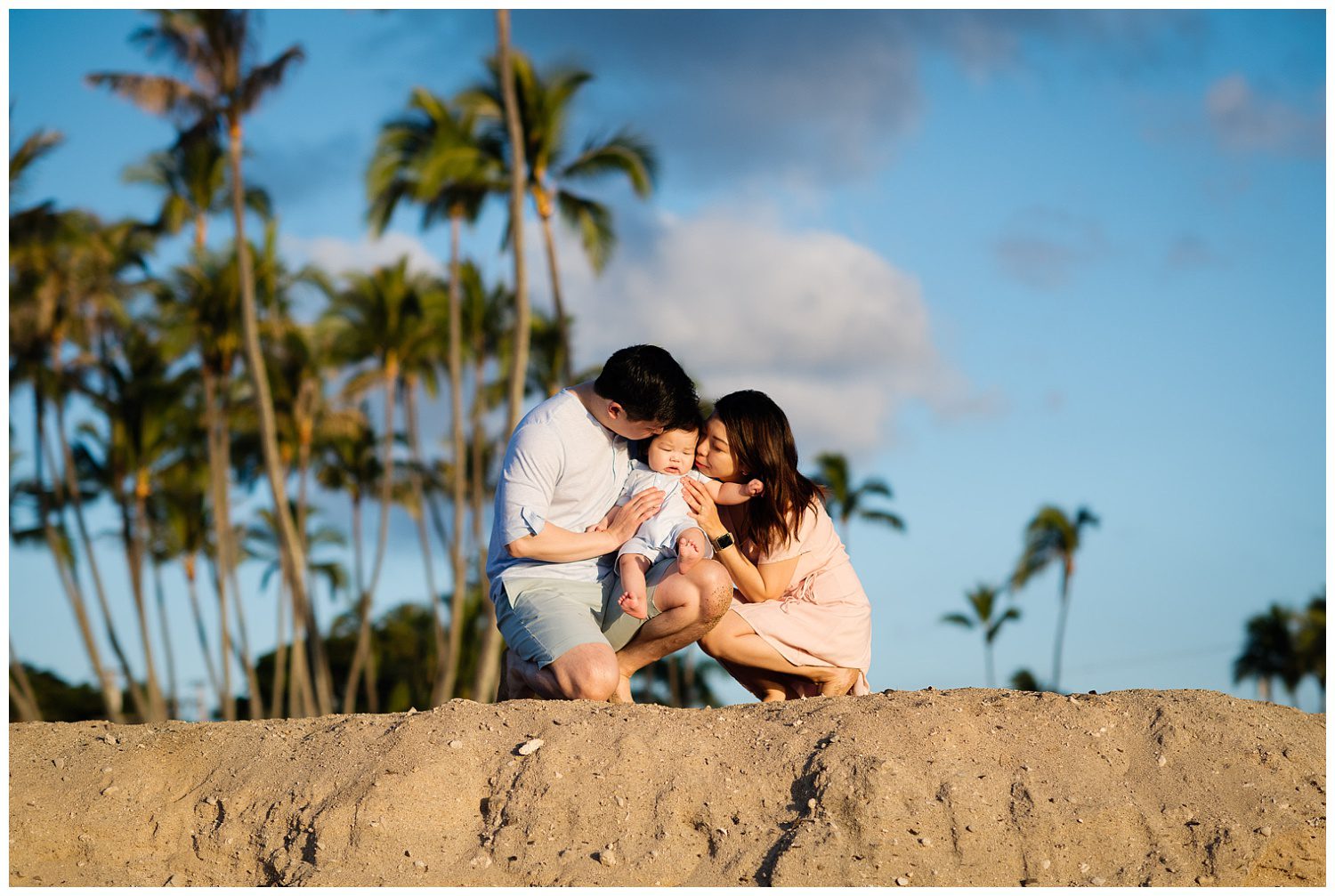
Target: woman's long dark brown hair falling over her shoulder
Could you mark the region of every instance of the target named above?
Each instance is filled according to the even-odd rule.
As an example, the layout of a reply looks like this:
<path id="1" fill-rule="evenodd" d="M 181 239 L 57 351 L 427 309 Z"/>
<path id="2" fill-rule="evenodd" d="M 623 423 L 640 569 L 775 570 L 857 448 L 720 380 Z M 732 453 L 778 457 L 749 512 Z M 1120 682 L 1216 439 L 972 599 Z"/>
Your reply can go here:
<path id="1" fill-rule="evenodd" d="M 765 393 L 746 389 L 724 395 L 714 414 L 728 429 L 737 470 L 765 483 L 764 494 L 746 502 L 737 539 L 750 550 L 773 553 L 797 534 L 820 487 L 797 471 L 797 445 L 788 417 Z"/>

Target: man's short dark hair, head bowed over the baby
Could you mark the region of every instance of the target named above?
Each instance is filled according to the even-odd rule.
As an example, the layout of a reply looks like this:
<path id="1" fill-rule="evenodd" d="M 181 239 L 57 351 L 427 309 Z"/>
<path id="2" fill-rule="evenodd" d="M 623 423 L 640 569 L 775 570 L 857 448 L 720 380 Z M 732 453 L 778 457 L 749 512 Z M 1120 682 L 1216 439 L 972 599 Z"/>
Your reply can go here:
<path id="1" fill-rule="evenodd" d="M 673 357 L 658 346 L 615 351 L 593 382 L 593 390 L 626 409 L 631 421 L 677 427 L 700 414 L 696 385 Z"/>

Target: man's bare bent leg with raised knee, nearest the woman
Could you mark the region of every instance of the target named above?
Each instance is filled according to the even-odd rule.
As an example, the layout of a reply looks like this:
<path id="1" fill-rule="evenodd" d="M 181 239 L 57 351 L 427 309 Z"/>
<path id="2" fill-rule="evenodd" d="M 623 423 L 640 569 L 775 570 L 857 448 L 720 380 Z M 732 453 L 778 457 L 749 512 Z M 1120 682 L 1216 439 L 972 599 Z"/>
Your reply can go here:
<path id="1" fill-rule="evenodd" d="M 728 612 L 733 600 L 733 580 L 722 564 L 705 559 L 684 573 L 680 562 L 654 590 L 659 613 L 639 626 L 630 644 L 617 652 L 621 680 L 617 697 L 630 702 L 630 676 L 654 660 L 681 650 L 702 638 Z"/>

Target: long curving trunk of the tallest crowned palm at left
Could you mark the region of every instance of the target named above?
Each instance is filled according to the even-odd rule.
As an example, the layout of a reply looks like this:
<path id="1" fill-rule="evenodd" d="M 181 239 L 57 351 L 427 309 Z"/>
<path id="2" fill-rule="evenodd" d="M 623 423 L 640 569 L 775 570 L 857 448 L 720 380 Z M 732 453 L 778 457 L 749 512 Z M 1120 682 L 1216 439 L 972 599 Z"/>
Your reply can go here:
<path id="1" fill-rule="evenodd" d="M 255 405 L 259 417 L 260 446 L 264 454 L 264 471 L 274 497 L 274 515 L 279 529 L 279 553 L 283 559 L 283 577 L 287 580 L 295 608 L 306 604 L 306 555 L 287 506 L 287 486 L 283 481 L 283 465 L 278 455 L 278 427 L 274 422 L 274 399 L 268 389 L 268 371 L 259 345 L 259 318 L 255 307 L 255 272 L 251 268 L 250 244 L 246 242 L 244 192 L 242 179 L 242 123 L 239 118 L 228 120 L 228 155 L 232 168 L 232 218 L 236 224 L 236 259 L 242 280 L 242 323 L 246 337 L 246 366 L 250 370 L 251 386 L 255 390 Z"/>

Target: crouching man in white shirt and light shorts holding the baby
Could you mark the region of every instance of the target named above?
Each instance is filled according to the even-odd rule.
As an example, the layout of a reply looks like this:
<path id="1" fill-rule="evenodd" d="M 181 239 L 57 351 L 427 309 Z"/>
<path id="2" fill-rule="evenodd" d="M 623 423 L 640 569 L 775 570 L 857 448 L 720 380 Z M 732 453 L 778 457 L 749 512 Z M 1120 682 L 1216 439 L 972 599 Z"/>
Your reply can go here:
<path id="1" fill-rule="evenodd" d="M 495 497 L 487 576 L 509 645 L 507 693 L 630 701 L 630 676 L 698 641 L 728 610 L 732 580 L 714 561 L 689 573 L 649 570 L 649 618 L 617 605 L 610 554 L 662 503 L 634 495 L 594 530 L 630 471 L 629 441 L 697 413 L 690 378 L 658 346 L 630 346 L 593 382 L 549 398 L 519 421 Z"/>

